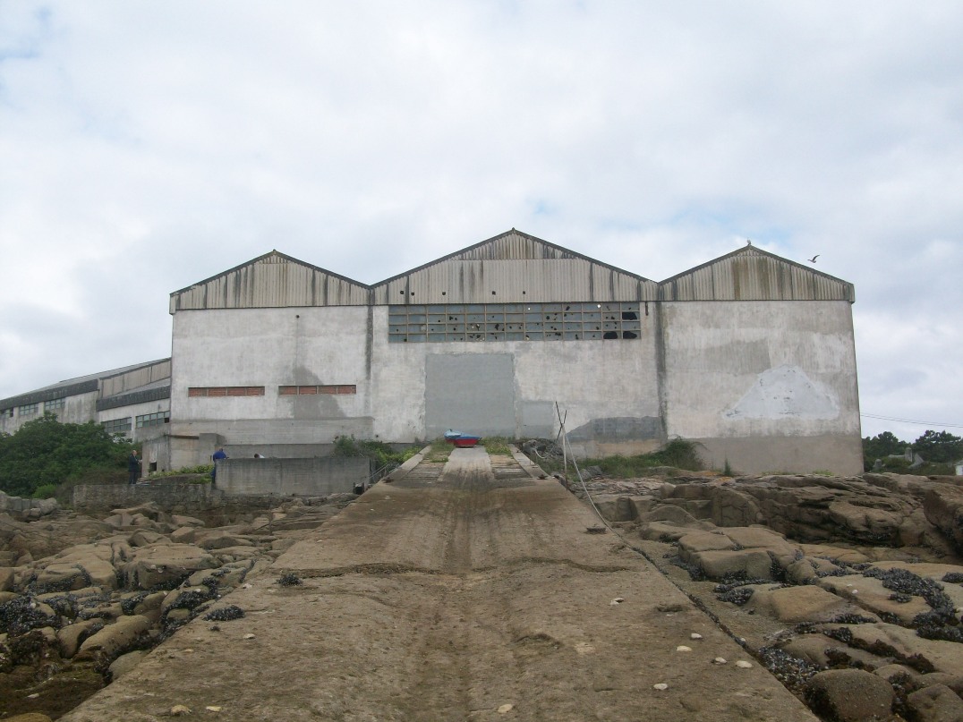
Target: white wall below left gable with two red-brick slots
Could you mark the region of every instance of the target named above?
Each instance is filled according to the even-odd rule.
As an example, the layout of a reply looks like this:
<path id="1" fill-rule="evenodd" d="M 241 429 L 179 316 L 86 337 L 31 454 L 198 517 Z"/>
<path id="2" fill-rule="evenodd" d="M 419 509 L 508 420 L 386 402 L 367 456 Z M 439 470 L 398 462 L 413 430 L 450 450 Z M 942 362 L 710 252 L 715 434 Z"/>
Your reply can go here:
<path id="1" fill-rule="evenodd" d="M 363 306 L 179 311 L 170 408 L 175 434 L 228 444 L 312 444 L 371 435 L 368 309 Z M 287 385 L 353 384 L 353 395 L 279 396 Z M 260 397 L 189 398 L 200 386 L 264 386 Z"/>

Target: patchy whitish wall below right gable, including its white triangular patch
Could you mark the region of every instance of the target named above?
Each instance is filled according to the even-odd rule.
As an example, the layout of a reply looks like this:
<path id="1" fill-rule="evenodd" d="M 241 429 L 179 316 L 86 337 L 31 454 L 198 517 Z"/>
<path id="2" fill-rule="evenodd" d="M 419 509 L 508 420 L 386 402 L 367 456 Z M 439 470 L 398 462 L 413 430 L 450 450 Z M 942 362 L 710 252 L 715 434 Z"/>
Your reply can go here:
<path id="1" fill-rule="evenodd" d="M 846 301 L 662 304 L 666 430 L 742 473 L 862 471 Z"/>

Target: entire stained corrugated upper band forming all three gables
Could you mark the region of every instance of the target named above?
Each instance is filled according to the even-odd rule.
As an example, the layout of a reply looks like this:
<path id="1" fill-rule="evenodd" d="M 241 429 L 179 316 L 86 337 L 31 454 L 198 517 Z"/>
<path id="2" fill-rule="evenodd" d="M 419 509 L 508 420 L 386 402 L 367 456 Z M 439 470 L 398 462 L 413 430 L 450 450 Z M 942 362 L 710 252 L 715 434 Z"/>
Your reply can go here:
<path id="1" fill-rule="evenodd" d="M 170 295 L 184 309 L 559 300 L 855 300 L 852 284 L 747 246 L 662 283 L 514 228 L 374 286 L 272 251 Z"/>

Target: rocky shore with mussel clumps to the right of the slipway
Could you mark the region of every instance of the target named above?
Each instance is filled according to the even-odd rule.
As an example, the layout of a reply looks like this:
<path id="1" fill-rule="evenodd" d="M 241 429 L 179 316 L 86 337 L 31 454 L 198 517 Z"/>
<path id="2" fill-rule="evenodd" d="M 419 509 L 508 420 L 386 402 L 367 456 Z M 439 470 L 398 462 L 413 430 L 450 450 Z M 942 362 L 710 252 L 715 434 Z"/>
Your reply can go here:
<path id="1" fill-rule="evenodd" d="M 658 476 L 573 490 L 823 719 L 963 720 L 957 479 Z"/>

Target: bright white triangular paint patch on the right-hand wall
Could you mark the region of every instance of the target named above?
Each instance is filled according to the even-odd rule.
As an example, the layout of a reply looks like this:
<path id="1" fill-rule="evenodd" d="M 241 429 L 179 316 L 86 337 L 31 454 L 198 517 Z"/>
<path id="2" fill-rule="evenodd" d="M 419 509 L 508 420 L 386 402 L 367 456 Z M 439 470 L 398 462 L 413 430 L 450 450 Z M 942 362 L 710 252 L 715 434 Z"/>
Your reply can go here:
<path id="1" fill-rule="evenodd" d="M 742 399 L 722 412 L 722 418 L 731 420 L 826 420 L 839 415 L 839 400 L 831 391 L 821 389 L 802 369 L 787 364 L 759 374 Z"/>

